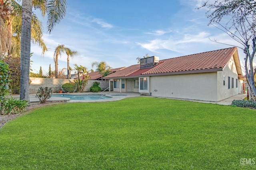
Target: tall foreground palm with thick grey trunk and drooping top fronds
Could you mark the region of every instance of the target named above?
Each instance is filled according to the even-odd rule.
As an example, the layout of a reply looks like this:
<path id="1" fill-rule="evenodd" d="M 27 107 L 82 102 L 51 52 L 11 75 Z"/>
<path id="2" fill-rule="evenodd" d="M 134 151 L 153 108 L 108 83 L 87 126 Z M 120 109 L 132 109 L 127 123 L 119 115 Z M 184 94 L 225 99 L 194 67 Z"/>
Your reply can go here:
<path id="1" fill-rule="evenodd" d="M 34 6 L 41 10 L 44 16 L 48 16 L 48 31 L 51 33 L 56 23 L 59 23 L 66 14 L 66 0 L 44 0 Z M 39 3 L 41 2 L 41 3 Z M 45 8 L 44 8 L 45 7 Z M 29 99 L 29 60 L 31 44 L 31 16 L 32 0 L 22 0 L 22 29 L 21 29 L 21 77 L 20 77 L 20 100 Z M 27 52 L 28 51 L 28 52 Z"/>

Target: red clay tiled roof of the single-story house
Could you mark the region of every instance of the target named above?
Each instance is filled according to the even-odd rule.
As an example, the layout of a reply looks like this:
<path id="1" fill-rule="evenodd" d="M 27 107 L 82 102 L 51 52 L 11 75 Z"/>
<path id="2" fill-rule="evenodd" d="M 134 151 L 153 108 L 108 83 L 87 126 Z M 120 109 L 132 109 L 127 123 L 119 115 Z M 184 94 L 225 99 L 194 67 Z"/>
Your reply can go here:
<path id="1" fill-rule="evenodd" d="M 197 71 L 209 69 L 221 69 L 227 64 L 229 59 L 237 52 L 236 47 L 220 49 L 215 51 L 208 51 L 204 53 L 198 53 L 193 55 L 186 55 L 182 57 L 176 57 L 171 59 L 160 60 L 159 64 L 154 68 L 140 70 L 140 64 L 132 65 L 124 68 L 118 72 L 114 72 L 104 78 L 117 78 L 117 77 L 129 77 L 129 76 L 142 76 L 145 74 L 158 74 L 158 73 L 175 73 L 183 71 Z M 239 57 L 237 55 L 238 62 Z M 240 63 L 238 64 L 240 66 Z M 237 68 L 238 70 L 241 68 Z M 210 71 L 210 70 L 209 70 Z M 240 71 L 238 71 L 238 74 Z"/>

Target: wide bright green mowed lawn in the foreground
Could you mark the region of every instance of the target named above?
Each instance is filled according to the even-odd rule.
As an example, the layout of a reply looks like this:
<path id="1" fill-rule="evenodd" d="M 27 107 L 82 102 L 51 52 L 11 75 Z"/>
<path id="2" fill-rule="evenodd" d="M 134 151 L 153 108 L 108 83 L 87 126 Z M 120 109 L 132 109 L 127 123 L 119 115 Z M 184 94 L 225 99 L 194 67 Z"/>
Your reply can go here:
<path id="1" fill-rule="evenodd" d="M 1 170 L 256 168 L 241 158 L 256 158 L 256 110 L 217 104 L 149 97 L 65 103 L 0 129 Z"/>

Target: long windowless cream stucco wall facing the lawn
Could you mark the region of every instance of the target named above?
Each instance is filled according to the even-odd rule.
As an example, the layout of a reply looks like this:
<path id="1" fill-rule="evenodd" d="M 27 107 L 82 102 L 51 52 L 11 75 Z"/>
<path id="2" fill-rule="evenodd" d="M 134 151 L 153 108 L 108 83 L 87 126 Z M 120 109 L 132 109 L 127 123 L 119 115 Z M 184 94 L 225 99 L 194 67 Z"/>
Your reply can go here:
<path id="1" fill-rule="evenodd" d="M 217 102 L 217 72 L 151 76 L 152 96 Z"/>

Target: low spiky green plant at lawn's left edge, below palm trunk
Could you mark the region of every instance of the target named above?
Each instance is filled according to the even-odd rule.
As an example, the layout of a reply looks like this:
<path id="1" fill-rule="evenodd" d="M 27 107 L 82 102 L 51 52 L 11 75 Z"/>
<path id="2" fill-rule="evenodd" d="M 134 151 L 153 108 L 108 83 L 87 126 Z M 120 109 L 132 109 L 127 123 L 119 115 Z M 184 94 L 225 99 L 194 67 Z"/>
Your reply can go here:
<path id="1" fill-rule="evenodd" d="M 2 113 L 4 115 L 17 114 L 26 110 L 30 104 L 26 100 L 18 100 L 14 98 L 6 98 L 2 106 Z"/>

